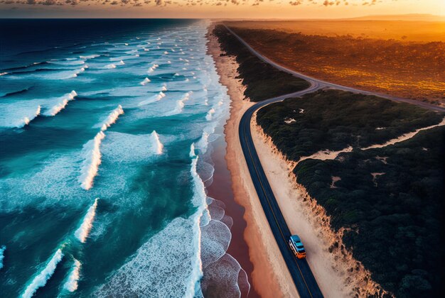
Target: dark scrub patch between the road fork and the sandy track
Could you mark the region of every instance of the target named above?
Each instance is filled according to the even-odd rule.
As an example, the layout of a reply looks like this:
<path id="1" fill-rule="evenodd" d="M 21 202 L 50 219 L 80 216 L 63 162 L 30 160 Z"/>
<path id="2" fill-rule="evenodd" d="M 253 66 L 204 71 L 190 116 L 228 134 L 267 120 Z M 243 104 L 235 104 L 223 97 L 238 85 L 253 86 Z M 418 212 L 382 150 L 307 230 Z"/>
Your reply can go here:
<path id="1" fill-rule="evenodd" d="M 257 123 L 288 158 L 299 160 L 319 150 L 382 144 L 443 117 L 377 96 L 321 90 L 265 106 L 257 113 Z M 284 122 L 289 119 L 295 122 Z"/>

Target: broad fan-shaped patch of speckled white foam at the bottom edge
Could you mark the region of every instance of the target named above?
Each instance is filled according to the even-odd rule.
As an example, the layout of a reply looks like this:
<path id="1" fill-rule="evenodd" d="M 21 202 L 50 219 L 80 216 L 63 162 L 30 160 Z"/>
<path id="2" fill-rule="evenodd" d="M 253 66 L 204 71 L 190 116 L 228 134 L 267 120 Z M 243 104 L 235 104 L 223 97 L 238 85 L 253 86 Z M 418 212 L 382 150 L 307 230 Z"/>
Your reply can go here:
<path id="1" fill-rule="evenodd" d="M 199 258 L 195 246 L 198 229 L 193 219 L 173 219 L 141 245 L 94 295 L 193 297 L 197 281 L 194 269 Z"/>

